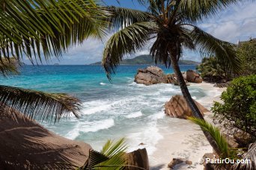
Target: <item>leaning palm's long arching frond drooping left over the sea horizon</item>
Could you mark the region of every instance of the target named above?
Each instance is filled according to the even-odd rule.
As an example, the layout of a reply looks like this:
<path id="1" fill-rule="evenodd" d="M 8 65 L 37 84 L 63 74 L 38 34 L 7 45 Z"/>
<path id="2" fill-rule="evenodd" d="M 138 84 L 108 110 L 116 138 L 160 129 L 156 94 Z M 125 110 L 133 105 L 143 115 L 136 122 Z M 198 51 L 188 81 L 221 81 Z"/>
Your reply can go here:
<path id="1" fill-rule="evenodd" d="M 112 35 L 106 43 L 102 60 L 109 80 L 124 55 L 142 48 L 153 34 L 153 29 L 156 29 L 154 22 L 136 22 Z"/>

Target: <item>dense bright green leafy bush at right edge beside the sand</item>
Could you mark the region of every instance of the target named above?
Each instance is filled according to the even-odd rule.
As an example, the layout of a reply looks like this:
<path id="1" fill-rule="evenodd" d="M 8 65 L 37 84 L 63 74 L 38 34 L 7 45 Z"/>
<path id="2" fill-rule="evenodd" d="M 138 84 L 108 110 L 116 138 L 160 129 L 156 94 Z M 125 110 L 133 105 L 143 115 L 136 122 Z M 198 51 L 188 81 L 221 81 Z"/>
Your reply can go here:
<path id="1" fill-rule="evenodd" d="M 215 102 L 212 110 L 219 119 L 256 136 L 256 75 L 240 77 L 222 92 L 224 104 Z"/>

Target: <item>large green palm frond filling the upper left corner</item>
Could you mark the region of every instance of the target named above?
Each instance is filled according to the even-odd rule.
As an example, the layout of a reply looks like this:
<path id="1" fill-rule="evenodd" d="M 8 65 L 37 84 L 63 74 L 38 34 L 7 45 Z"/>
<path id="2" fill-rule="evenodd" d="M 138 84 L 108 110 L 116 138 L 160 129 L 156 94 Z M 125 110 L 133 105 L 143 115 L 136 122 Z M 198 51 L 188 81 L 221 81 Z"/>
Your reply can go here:
<path id="1" fill-rule="evenodd" d="M 0 56 L 22 59 L 25 54 L 46 60 L 86 38 L 105 34 L 106 11 L 93 0 L 0 1 Z M 106 19 L 105 19 L 106 20 Z"/>

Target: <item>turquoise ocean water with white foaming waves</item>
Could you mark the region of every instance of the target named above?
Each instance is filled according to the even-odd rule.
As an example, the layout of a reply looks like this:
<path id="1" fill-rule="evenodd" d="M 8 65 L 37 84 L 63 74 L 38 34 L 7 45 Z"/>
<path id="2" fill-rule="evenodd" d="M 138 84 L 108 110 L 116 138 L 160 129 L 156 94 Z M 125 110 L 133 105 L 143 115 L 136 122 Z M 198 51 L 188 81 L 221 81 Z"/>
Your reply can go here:
<path id="1" fill-rule="evenodd" d="M 1 84 L 47 92 L 66 92 L 82 100 L 80 119 L 70 116 L 58 124 L 43 122 L 47 129 L 68 139 L 89 143 L 100 150 L 107 139 L 125 137 L 129 150 L 147 144 L 148 154 L 162 139 L 159 129 L 177 125 L 179 119 L 166 119 L 164 107 L 172 95 L 181 94 L 172 84 L 144 86 L 135 84 L 134 75 L 145 66 L 119 66 L 112 83 L 101 66 L 23 66 L 21 75 L 0 78 Z M 180 66 L 182 71 L 195 66 Z M 165 73 L 173 72 L 165 69 Z M 203 89 L 189 86 L 192 97 L 207 94 Z M 160 128 L 161 127 L 161 128 Z"/>

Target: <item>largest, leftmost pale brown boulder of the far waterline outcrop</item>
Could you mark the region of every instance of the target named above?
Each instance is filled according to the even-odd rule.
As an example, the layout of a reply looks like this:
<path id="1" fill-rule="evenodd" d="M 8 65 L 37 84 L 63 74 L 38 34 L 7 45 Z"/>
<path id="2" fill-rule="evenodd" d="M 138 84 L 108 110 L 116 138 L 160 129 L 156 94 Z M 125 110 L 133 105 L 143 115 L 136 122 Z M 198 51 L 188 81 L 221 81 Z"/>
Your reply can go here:
<path id="1" fill-rule="evenodd" d="M 138 69 L 135 75 L 135 82 L 137 84 L 166 84 L 167 79 L 164 72 L 157 66 L 148 66 L 146 69 Z"/>

